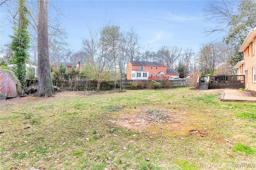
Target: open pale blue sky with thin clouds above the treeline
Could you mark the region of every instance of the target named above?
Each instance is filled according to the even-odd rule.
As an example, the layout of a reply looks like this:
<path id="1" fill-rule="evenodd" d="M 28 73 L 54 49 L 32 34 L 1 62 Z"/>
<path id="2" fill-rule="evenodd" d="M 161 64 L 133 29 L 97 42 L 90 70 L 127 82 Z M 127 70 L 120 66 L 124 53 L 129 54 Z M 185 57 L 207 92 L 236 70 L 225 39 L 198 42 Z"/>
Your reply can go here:
<path id="1" fill-rule="evenodd" d="M 162 45 L 192 48 L 198 52 L 203 43 L 216 40 L 223 35 L 206 36 L 204 30 L 215 26 L 214 21 L 204 22 L 203 9 L 209 1 L 185 0 L 56 0 L 53 3 L 64 14 L 60 18 L 68 33 L 66 42 L 70 49 L 78 51 L 82 47 L 81 38 L 88 38 L 88 26 L 93 30 L 111 20 L 127 32 L 134 28 L 140 37 L 139 43 L 150 51 L 157 52 Z M 2 17 L 1 17 L 2 20 Z M 3 21 L 1 21 L 3 22 Z M 10 27 L 1 26 L 1 48 L 11 42 Z M 142 51 L 143 52 L 143 51 Z"/>

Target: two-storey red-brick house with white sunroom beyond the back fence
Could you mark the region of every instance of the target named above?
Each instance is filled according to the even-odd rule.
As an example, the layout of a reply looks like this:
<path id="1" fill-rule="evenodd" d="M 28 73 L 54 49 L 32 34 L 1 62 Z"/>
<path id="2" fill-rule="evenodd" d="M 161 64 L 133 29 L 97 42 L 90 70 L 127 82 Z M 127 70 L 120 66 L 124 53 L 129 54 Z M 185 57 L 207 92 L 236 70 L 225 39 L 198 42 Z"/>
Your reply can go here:
<path id="1" fill-rule="evenodd" d="M 162 62 L 130 61 L 127 64 L 128 80 L 171 79 L 172 77 L 179 77 L 179 73 L 174 69 L 166 69 L 166 65 Z"/>

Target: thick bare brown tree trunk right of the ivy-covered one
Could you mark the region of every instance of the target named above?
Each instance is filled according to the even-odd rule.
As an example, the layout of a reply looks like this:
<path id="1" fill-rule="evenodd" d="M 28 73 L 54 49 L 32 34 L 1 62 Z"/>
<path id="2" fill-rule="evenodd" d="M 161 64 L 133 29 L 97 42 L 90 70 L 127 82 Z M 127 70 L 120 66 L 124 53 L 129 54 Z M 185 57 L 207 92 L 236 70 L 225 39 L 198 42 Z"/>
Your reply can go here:
<path id="1" fill-rule="evenodd" d="M 38 91 L 37 97 L 54 97 L 48 45 L 48 0 L 38 0 Z"/>

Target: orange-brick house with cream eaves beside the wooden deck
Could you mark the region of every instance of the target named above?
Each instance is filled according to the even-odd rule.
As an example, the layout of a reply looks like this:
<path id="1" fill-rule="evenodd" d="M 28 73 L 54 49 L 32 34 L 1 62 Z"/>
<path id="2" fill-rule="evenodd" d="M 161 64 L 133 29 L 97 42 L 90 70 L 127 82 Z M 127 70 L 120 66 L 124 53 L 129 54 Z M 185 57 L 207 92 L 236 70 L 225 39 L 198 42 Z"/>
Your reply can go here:
<path id="1" fill-rule="evenodd" d="M 244 59 L 239 61 L 235 66 L 237 75 L 245 75 L 248 90 L 256 91 L 256 27 L 251 29 L 246 36 L 239 52 L 244 53 Z"/>

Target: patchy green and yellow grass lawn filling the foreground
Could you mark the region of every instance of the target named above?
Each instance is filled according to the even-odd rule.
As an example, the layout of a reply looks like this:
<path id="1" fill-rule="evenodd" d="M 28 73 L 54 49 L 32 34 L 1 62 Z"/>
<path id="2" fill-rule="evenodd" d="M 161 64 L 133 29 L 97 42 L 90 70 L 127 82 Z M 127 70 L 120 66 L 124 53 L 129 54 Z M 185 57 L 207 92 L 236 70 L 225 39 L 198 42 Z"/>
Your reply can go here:
<path id="1" fill-rule="evenodd" d="M 9 99 L 0 169 L 254 169 L 256 103 L 220 95 L 185 87 Z"/>

